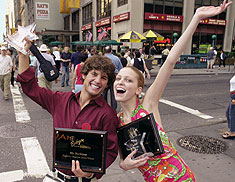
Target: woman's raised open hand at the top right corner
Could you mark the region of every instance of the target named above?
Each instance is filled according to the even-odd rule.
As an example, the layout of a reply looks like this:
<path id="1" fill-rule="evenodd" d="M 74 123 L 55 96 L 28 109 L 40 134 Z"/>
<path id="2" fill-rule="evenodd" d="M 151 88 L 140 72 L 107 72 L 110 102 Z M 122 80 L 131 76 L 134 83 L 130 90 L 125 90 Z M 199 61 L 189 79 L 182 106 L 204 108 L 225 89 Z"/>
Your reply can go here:
<path id="1" fill-rule="evenodd" d="M 225 11 L 233 2 L 226 3 L 227 0 L 224 0 L 220 6 L 202 6 L 196 10 L 195 15 L 200 19 L 205 19 L 208 17 L 212 17 L 218 15 Z"/>

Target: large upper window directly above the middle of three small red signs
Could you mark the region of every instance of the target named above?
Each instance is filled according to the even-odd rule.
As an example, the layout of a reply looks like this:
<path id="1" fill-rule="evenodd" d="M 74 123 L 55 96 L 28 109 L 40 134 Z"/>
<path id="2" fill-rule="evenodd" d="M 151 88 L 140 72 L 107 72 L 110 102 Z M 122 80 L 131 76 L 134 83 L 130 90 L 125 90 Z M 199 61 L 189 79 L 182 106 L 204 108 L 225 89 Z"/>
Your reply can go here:
<path id="1" fill-rule="evenodd" d="M 112 0 L 97 0 L 97 20 L 111 16 Z"/>

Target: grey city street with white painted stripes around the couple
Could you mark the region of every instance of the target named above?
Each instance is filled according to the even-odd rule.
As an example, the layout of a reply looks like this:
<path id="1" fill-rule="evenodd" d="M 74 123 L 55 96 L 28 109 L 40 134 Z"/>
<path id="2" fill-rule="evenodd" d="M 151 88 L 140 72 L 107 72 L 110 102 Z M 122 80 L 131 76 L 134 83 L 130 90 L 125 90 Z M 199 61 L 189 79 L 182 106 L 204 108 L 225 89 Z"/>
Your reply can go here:
<path id="1" fill-rule="evenodd" d="M 235 140 L 221 137 L 227 129 L 225 111 L 232 76 L 233 73 L 174 74 L 159 105 L 164 129 L 199 182 L 229 182 L 235 178 Z M 146 88 L 152 81 L 153 77 L 146 80 Z M 53 90 L 70 90 L 60 86 L 61 76 L 53 84 Z M 13 96 L 8 101 L 0 92 L 0 181 L 42 181 L 52 166 L 52 118 L 19 91 L 18 86 L 11 90 Z M 228 149 L 222 154 L 182 149 L 176 140 L 187 135 L 220 139 Z M 143 181 L 137 170 L 122 171 L 118 161 L 117 158 L 100 181 Z"/>

